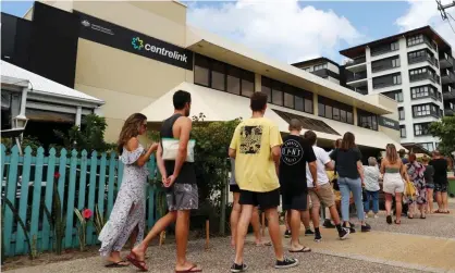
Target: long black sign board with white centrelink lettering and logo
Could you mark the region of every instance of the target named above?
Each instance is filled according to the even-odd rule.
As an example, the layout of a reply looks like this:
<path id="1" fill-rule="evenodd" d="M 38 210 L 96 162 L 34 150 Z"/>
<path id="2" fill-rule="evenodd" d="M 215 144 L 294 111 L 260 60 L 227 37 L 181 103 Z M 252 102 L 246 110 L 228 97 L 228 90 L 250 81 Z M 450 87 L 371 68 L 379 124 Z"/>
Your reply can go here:
<path id="1" fill-rule="evenodd" d="M 193 70 L 193 52 L 123 26 L 74 11 L 79 16 L 79 37 L 186 70 Z"/>

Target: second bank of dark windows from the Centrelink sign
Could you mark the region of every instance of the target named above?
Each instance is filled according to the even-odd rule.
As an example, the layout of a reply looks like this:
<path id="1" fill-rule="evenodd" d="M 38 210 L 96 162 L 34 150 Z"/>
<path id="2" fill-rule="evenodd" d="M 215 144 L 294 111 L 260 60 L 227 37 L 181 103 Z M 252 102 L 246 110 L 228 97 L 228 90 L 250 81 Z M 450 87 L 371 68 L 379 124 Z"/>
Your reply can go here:
<path id="1" fill-rule="evenodd" d="M 254 78 L 254 75 L 253 75 Z M 312 114 L 312 92 L 262 76 L 261 91 L 269 102 Z"/>

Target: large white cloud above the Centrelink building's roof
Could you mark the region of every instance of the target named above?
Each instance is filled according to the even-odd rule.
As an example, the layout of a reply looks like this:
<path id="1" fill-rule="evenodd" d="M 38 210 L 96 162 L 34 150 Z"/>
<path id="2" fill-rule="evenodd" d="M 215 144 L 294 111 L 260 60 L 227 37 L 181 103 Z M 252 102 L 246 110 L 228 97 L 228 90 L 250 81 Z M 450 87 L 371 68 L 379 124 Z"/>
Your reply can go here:
<path id="1" fill-rule="evenodd" d="M 362 35 L 333 11 L 300 7 L 297 0 L 189 5 L 188 22 L 287 63 L 317 57 L 339 59 L 341 44 Z"/>

